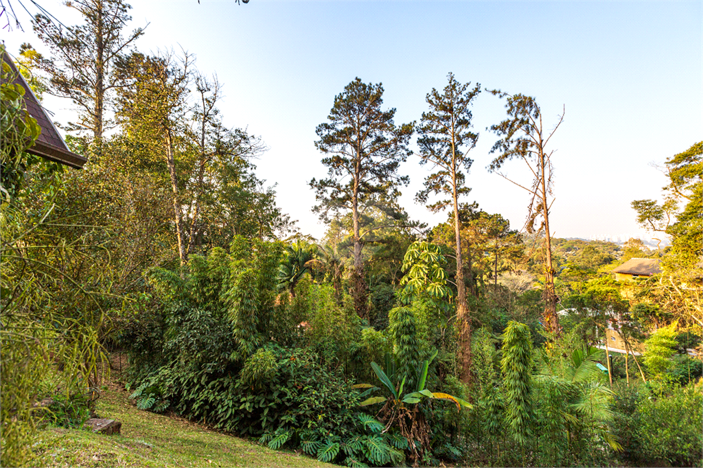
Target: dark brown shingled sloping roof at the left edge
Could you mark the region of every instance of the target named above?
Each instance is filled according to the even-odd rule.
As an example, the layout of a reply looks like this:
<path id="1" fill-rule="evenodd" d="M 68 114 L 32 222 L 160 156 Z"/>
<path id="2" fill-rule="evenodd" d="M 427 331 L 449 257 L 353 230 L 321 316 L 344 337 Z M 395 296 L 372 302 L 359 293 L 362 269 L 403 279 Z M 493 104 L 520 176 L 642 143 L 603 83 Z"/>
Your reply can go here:
<path id="1" fill-rule="evenodd" d="M 53 126 L 49 114 L 41 107 L 37 96 L 34 96 L 32 89 L 25 81 L 25 78 L 22 77 L 22 74 L 18 72 L 17 67 L 15 67 L 15 64 L 7 53 L 3 54 L 2 60 L 10 65 L 13 70 L 13 74 L 15 75 L 15 79 L 12 81 L 13 84 L 19 84 L 25 89 L 25 106 L 27 107 L 27 112 L 29 112 L 34 119 L 37 119 L 37 124 L 41 126 L 39 138 L 37 138 L 37 141 L 34 142 L 31 148 L 27 149 L 27 152 L 32 153 L 32 155 L 44 157 L 47 160 L 60 162 L 61 164 L 81 169 L 83 164 L 87 161 L 86 158 L 68 150 L 65 141 L 61 138 L 56 127 Z"/>

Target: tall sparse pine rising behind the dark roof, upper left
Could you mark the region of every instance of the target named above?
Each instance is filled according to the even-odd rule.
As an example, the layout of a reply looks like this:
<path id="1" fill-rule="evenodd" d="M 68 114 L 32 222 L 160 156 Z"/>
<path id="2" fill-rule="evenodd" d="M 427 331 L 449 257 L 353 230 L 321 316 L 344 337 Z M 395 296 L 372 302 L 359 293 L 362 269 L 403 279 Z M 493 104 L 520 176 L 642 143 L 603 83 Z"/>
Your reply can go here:
<path id="1" fill-rule="evenodd" d="M 32 20 L 34 32 L 51 48 L 52 58 L 41 60 L 41 68 L 49 74 L 49 93 L 70 98 L 77 105 L 78 121 L 67 128 L 88 131 L 100 141 L 111 126 L 105 115 L 115 91 L 124 85 L 115 65 L 129 53 L 144 28 L 122 36 L 131 20 L 131 6 L 123 0 L 73 0 L 65 4 L 82 15 L 83 25 L 63 27 L 44 14 Z"/>

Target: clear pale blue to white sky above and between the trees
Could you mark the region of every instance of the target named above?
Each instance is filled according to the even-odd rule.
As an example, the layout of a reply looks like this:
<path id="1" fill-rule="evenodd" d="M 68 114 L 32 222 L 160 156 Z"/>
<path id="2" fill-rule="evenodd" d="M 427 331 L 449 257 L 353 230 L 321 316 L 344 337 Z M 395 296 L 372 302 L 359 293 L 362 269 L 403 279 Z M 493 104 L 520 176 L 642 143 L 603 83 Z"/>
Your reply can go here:
<path id="1" fill-rule="evenodd" d="M 34 6 L 23 0 L 30 11 Z M 3 37 L 10 51 L 30 42 L 46 51 L 13 1 L 24 33 Z M 65 24 L 77 22 L 60 2 L 41 5 Z M 419 120 L 425 95 L 460 82 L 535 96 L 548 122 L 565 107 L 553 138 L 557 237 L 640 236 L 632 200 L 657 198 L 666 179 L 651 162 L 703 139 L 703 2 L 696 1 L 296 1 L 133 0 L 134 25 L 150 22 L 142 51 L 179 48 L 224 83 L 221 110 L 229 126 L 262 136 L 269 151 L 257 174 L 277 183 L 278 204 L 303 233 L 325 226 L 310 208 L 307 185 L 325 176 L 314 147 L 334 96 L 354 77 L 382 82 L 396 122 Z M 70 104 L 46 100 L 58 120 Z M 474 108 L 479 144 L 467 202 L 501 213 L 513 228 L 527 214 L 527 193 L 489 174 L 496 136 L 486 127 L 504 117 L 503 103 L 483 93 Z M 434 224 L 413 201 L 427 176 L 418 157 L 401 167 L 411 176 L 401 204 Z M 505 171 L 528 181 L 527 167 Z"/>

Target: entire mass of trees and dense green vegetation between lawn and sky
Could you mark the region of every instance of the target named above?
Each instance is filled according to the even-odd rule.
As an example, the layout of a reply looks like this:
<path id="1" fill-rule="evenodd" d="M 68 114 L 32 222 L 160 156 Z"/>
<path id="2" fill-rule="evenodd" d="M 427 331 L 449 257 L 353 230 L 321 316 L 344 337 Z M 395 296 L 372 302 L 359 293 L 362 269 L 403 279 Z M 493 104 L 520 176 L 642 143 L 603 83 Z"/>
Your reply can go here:
<path id="1" fill-rule="evenodd" d="M 57 56 L 27 45 L 20 63 L 34 91 L 82 108 L 66 137 L 82 171 L 27 153 L 41 129 L 2 72 L 0 464 L 31 465 L 46 425 L 82 427 L 108 349 L 127 355 L 139 410 L 321 462 L 702 464 L 701 143 L 666 161 L 662 204 L 633 202 L 671 247 L 553 239 L 551 153 L 534 140 L 553 131 L 534 98 L 496 91 L 508 119 L 491 127 L 491 170 L 519 157 L 536 176 L 518 233 L 458 202 L 479 86 L 449 74 L 416 127 L 355 79 L 317 127 L 317 244 L 254 174 L 262 138 L 224 126 L 216 78 L 187 53 L 138 51 L 121 0 L 77 11 L 86 24 L 68 31 L 84 42 L 39 17 Z M 107 81 L 68 89 L 69 74 Z M 420 200 L 454 205 L 427 230 L 399 205 L 415 129 L 437 165 Z M 661 273 L 614 278 L 645 257 Z"/>

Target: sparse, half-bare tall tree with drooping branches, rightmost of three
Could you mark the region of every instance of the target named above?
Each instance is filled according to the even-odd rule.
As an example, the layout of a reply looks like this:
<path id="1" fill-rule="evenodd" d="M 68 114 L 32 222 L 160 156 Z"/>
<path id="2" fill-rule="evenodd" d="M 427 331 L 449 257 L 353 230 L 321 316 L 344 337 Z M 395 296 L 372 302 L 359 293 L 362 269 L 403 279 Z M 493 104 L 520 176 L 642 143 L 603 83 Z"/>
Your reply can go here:
<path id="1" fill-rule="evenodd" d="M 499 124 L 491 125 L 491 130 L 501 139 L 496 141 L 491 149 L 491 153 L 497 152 L 498 156 L 488 169 L 530 194 L 525 229 L 528 233 L 544 233 L 544 327 L 558 336 L 561 334 L 561 327 L 557 317 L 557 294 L 554 288 L 556 272 L 552 265 L 552 233 L 549 226 L 549 210 L 554 202 L 551 161 L 554 150 L 548 150 L 548 143 L 564 121 L 564 112 L 557 119 L 555 126 L 548 129 L 535 98 L 522 94 L 510 95 L 503 91 L 490 92 L 505 98 L 508 118 Z M 517 183 L 501 172 L 503 165 L 513 159 L 522 160 L 527 164 L 533 176 L 531 185 Z M 540 221 L 540 224 L 535 228 L 537 221 Z"/>

